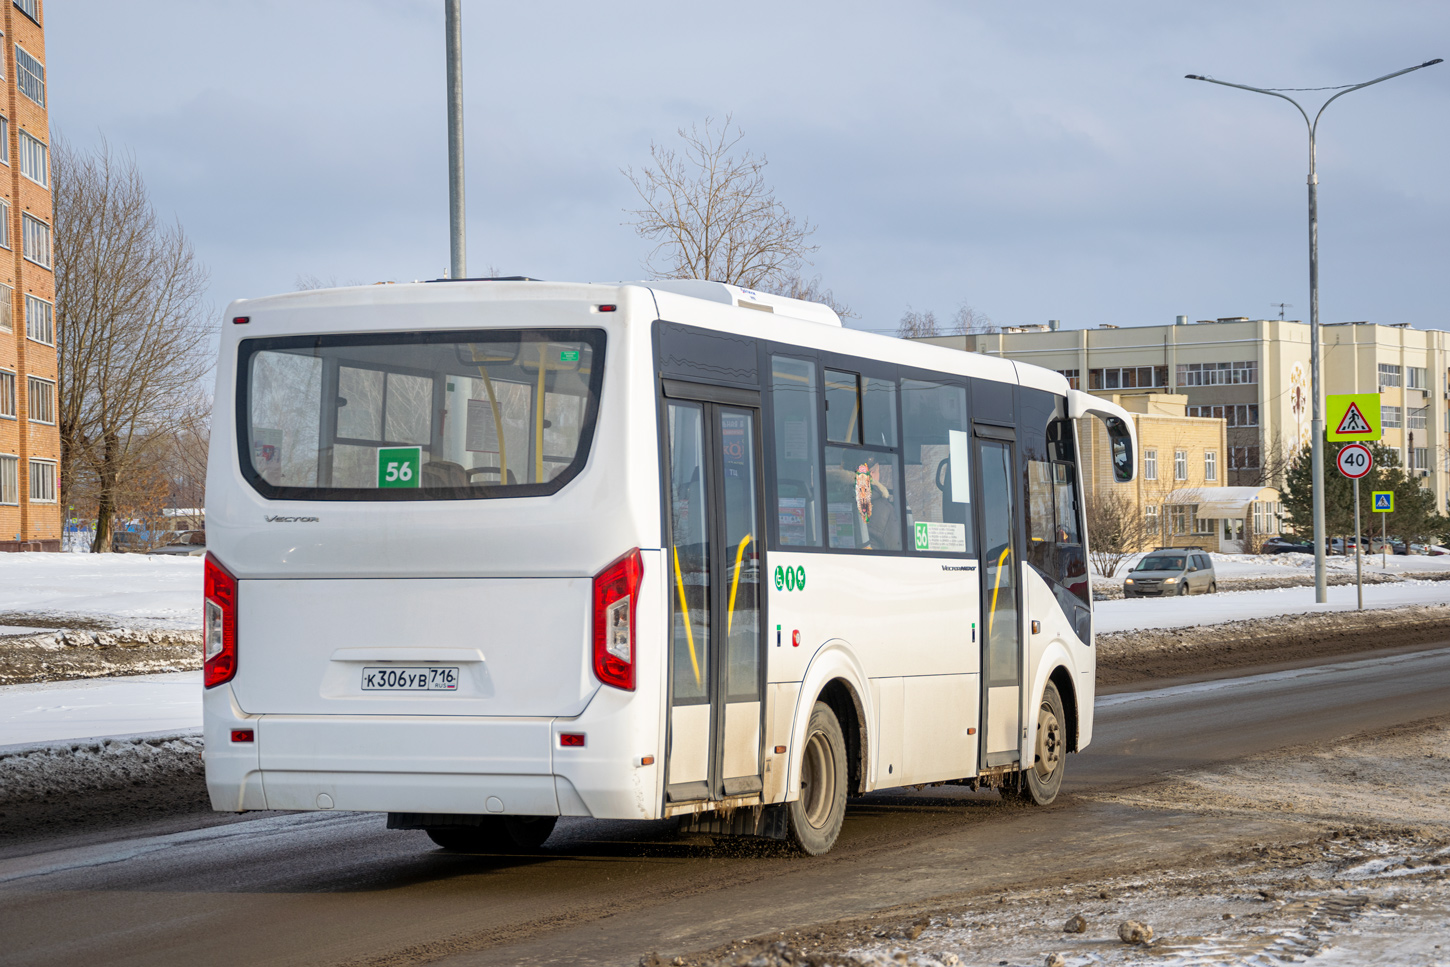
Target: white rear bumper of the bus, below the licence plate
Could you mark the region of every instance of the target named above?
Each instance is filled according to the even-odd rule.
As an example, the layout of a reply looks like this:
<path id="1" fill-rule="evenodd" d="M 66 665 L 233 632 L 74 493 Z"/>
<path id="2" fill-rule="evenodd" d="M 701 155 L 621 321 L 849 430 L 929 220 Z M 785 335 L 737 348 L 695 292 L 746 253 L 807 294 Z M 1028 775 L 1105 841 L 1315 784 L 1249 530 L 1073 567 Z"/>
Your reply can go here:
<path id="1" fill-rule="evenodd" d="M 246 715 L 206 694 L 212 808 L 654 819 L 655 770 L 628 748 L 628 697 L 573 719 L 502 716 Z M 249 729 L 252 741 L 232 741 Z M 587 732 L 583 748 L 561 734 Z"/>

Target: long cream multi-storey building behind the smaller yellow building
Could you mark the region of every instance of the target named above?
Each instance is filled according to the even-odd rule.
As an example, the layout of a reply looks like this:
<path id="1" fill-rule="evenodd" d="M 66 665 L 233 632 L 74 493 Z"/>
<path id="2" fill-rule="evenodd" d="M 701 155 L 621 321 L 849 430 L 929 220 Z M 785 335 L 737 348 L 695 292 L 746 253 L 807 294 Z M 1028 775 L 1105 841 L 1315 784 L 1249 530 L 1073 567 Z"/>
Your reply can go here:
<path id="1" fill-rule="evenodd" d="M 1282 487 L 1288 462 L 1309 441 L 1309 326 L 1285 319 L 1204 319 L 1174 325 L 998 332 L 924 339 L 1057 370 L 1099 396 L 1169 393 L 1192 416 L 1222 418 L 1228 486 Z M 1450 497 L 1450 332 L 1367 322 L 1321 326 L 1324 393 L 1382 397 L 1385 445 Z M 1438 402 L 1437 402 L 1438 400 Z"/>

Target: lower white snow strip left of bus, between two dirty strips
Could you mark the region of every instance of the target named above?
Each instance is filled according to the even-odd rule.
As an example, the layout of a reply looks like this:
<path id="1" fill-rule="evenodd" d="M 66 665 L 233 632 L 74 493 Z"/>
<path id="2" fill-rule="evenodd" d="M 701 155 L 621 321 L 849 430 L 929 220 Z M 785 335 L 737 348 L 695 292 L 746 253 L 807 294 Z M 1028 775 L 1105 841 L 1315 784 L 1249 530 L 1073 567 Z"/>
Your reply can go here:
<path id="1" fill-rule="evenodd" d="M 200 728 L 200 671 L 0 689 L 0 747 Z"/>

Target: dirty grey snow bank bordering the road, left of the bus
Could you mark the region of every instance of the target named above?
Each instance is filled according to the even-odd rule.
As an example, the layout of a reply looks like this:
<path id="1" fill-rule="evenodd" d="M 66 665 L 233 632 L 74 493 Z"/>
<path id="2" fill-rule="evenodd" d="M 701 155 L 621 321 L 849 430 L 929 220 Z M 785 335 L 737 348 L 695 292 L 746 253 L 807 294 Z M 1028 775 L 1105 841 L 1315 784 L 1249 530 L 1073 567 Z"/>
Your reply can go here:
<path id="1" fill-rule="evenodd" d="M 196 732 L 0 750 L 0 809 L 126 786 L 165 786 L 202 773 Z"/>

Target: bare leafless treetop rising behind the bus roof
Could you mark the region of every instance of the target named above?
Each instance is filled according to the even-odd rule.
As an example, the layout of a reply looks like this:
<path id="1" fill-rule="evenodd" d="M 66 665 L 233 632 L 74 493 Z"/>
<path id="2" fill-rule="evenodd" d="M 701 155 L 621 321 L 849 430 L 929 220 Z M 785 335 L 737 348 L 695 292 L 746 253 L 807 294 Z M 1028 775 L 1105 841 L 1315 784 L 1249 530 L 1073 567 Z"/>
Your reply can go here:
<path id="1" fill-rule="evenodd" d="M 764 157 L 734 154 L 745 138 L 731 117 L 680 128 L 679 149 L 650 144 L 652 165 L 624 170 L 642 206 L 631 225 L 654 242 L 655 278 L 709 278 L 774 291 L 806 262 L 815 226 L 796 219 L 766 183 Z"/>

